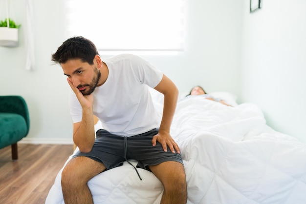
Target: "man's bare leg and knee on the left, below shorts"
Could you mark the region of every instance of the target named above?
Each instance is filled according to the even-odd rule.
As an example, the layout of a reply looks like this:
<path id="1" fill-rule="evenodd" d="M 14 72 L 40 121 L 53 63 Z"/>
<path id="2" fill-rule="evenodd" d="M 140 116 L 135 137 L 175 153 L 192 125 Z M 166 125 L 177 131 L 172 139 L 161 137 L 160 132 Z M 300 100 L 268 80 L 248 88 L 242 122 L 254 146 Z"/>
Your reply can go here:
<path id="1" fill-rule="evenodd" d="M 87 157 L 72 158 L 62 172 L 65 204 L 93 204 L 87 182 L 105 169 L 103 163 Z"/>

